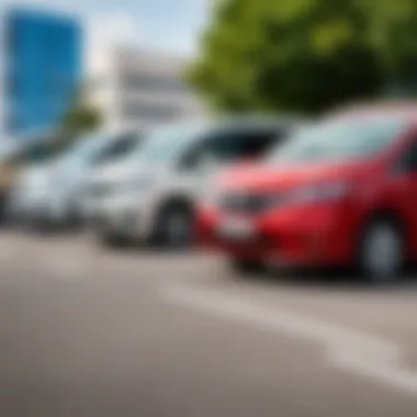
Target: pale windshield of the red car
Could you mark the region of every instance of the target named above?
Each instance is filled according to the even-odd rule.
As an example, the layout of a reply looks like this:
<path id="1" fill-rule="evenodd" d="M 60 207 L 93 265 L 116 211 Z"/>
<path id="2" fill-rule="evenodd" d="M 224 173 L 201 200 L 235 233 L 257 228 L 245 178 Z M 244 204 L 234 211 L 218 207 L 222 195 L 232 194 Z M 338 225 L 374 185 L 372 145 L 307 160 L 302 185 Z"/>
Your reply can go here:
<path id="1" fill-rule="evenodd" d="M 404 129 L 401 117 L 357 117 L 323 122 L 297 131 L 269 161 L 296 165 L 365 158 L 385 149 Z"/>

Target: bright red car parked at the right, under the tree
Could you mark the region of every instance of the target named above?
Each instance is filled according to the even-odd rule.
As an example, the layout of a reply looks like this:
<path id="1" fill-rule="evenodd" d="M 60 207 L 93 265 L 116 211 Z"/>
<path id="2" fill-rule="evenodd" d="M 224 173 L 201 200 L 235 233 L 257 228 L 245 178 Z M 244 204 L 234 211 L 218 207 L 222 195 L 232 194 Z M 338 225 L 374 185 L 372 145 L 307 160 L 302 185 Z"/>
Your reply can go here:
<path id="1" fill-rule="evenodd" d="M 240 271 L 356 266 L 381 282 L 417 257 L 417 110 L 368 109 L 296 132 L 218 178 L 200 239 Z"/>

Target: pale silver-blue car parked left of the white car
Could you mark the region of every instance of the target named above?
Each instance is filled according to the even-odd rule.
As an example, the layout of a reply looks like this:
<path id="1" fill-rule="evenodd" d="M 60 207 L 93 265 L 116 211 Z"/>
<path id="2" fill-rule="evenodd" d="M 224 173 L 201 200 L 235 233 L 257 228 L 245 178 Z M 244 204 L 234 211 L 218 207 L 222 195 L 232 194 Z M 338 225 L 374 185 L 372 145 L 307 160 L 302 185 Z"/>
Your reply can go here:
<path id="1" fill-rule="evenodd" d="M 63 156 L 30 166 L 18 179 L 11 216 L 31 225 L 74 225 L 81 219 L 79 192 L 88 172 L 138 146 L 140 134 L 100 133 L 78 140 Z"/>

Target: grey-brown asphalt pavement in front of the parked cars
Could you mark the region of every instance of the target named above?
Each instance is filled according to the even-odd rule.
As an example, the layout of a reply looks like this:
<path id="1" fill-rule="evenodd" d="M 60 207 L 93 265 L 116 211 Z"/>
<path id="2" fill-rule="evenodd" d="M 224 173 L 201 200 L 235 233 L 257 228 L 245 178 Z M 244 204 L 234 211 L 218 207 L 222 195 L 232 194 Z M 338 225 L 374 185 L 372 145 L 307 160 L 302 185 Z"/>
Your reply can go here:
<path id="1" fill-rule="evenodd" d="M 95 244 L 1 233 L 1 416 L 417 416 L 417 279 Z"/>

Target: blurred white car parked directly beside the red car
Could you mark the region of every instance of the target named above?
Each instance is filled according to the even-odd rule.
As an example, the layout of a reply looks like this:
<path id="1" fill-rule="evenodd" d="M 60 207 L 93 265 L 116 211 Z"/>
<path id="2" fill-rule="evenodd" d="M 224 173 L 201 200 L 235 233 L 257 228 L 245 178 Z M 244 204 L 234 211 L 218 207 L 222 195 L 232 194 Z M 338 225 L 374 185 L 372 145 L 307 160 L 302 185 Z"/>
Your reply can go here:
<path id="1" fill-rule="evenodd" d="M 189 246 L 195 202 L 212 174 L 236 160 L 263 156 L 294 125 L 286 120 L 249 117 L 150 132 L 124 172 L 119 170 L 113 180 L 93 185 L 101 193 L 94 222 L 100 239 Z"/>

